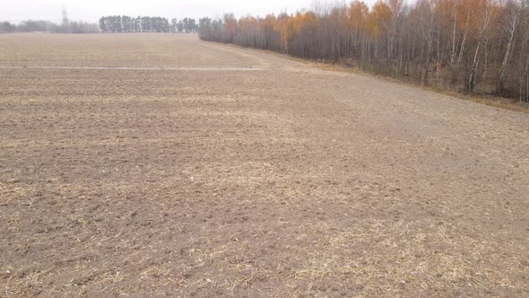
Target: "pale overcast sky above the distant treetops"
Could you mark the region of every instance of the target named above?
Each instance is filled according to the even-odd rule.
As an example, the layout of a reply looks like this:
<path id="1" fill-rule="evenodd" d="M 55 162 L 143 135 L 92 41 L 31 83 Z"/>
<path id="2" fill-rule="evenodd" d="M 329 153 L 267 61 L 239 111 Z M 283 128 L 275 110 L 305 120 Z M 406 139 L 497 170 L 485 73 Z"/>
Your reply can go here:
<path id="1" fill-rule="evenodd" d="M 63 4 L 70 20 L 97 22 L 101 16 L 111 14 L 162 16 L 169 19 L 186 16 L 215 17 L 222 13 L 264 16 L 285 10 L 295 13 L 303 8 L 310 8 L 313 2 L 314 0 L 0 0 L 3 3 L 0 5 L 0 21 L 21 22 L 31 19 L 59 22 L 62 19 Z"/>

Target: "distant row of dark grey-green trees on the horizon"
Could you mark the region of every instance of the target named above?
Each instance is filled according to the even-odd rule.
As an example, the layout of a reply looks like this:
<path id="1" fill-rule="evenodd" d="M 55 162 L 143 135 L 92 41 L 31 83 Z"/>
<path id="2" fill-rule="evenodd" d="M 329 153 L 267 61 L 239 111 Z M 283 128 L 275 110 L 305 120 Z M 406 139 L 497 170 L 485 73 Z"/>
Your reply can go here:
<path id="1" fill-rule="evenodd" d="M 193 33 L 198 31 L 195 19 L 182 20 L 162 18 L 159 16 L 109 15 L 100 18 L 100 30 L 104 33 L 118 32 L 178 32 Z"/>

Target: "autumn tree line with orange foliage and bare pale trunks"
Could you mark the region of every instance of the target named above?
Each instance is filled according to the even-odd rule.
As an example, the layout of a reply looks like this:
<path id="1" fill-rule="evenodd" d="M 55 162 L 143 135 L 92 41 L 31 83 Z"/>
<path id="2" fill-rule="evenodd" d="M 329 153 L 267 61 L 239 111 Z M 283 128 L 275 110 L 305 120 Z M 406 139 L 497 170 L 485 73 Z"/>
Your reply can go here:
<path id="1" fill-rule="evenodd" d="M 529 104 L 529 0 L 379 0 L 199 20 L 200 38 Z"/>

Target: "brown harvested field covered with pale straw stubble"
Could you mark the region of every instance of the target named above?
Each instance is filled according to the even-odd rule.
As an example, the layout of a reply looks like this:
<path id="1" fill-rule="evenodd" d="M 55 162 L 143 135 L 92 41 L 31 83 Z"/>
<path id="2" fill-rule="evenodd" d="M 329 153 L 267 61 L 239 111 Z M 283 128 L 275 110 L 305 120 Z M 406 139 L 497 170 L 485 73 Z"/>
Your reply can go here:
<path id="1" fill-rule="evenodd" d="M 0 67 L 0 296 L 529 295 L 527 114 L 193 35 Z"/>

